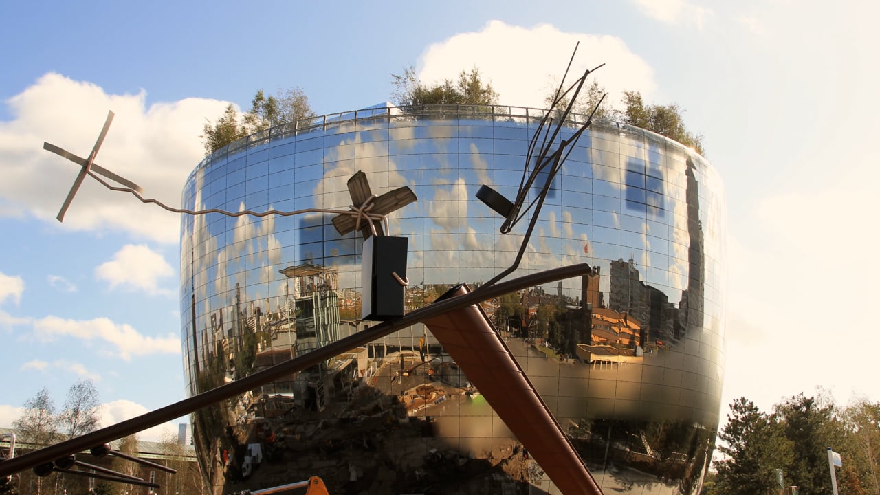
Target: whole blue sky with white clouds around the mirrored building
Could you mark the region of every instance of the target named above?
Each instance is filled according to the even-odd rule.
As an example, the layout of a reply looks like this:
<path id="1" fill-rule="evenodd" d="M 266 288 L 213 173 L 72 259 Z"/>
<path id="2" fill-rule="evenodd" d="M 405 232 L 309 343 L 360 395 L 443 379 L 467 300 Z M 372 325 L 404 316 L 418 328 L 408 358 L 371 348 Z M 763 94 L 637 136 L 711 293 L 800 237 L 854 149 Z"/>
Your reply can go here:
<path id="1" fill-rule="evenodd" d="M 88 155 L 167 203 L 205 119 L 301 87 L 319 115 L 388 100 L 392 72 L 476 65 L 503 104 L 540 106 L 576 41 L 612 97 L 676 102 L 705 136 L 729 218 L 724 405 L 829 390 L 880 400 L 874 144 L 880 8 L 656 2 L 2 3 L 0 426 L 47 387 L 92 378 L 114 422 L 184 397 L 179 219 L 86 183 Z M 146 438 L 158 438 L 153 431 Z"/>

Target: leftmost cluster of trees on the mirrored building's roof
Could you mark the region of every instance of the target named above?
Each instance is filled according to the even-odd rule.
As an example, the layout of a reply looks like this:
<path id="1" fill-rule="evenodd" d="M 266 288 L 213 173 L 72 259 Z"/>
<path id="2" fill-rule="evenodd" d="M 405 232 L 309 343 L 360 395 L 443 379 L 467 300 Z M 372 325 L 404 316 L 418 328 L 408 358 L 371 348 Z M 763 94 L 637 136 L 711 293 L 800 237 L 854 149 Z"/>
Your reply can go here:
<path id="1" fill-rule="evenodd" d="M 205 153 L 211 154 L 254 132 L 314 116 L 308 97 L 298 87 L 279 90 L 276 96 L 268 97 L 262 89 L 257 90 L 251 100 L 251 110 L 246 114 L 240 114 L 230 104 L 215 123 L 205 123 L 202 134 Z"/>

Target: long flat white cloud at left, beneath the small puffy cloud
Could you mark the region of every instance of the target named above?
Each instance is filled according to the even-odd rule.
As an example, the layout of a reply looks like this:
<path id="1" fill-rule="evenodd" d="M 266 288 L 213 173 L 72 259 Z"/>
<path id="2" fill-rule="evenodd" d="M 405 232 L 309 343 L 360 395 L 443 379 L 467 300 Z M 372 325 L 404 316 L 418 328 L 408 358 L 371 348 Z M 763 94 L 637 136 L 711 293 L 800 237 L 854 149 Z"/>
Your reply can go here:
<path id="1" fill-rule="evenodd" d="M 33 329 L 35 335 L 43 340 L 53 340 L 56 336 L 73 336 L 86 341 L 104 341 L 114 346 L 114 354 L 127 361 L 132 356 L 180 353 L 180 338 L 173 334 L 144 336 L 130 325 L 114 323 L 107 318 L 64 320 L 57 316 L 47 316 L 33 321 Z"/>

